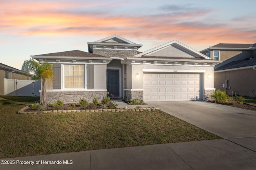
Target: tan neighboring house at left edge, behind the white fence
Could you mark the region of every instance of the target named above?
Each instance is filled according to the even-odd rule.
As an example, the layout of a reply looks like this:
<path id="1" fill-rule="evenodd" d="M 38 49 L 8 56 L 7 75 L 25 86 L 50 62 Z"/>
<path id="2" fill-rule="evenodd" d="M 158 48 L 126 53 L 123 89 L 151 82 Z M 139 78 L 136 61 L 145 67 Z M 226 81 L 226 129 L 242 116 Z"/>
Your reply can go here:
<path id="1" fill-rule="evenodd" d="M 5 78 L 31 80 L 33 74 L 28 74 L 11 66 L 0 63 L 0 96 L 4 96 Z"/>

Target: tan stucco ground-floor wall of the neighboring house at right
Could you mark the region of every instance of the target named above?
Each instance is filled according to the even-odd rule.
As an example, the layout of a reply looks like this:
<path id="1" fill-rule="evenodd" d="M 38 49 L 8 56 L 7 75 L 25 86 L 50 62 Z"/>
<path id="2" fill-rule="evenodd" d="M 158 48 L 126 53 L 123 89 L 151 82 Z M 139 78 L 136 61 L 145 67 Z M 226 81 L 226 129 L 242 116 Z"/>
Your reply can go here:
<path id="1" fill-rule="evenodd" d="M 214 86 L 219 90 L 225 90 L 223 88 L 224 81 L 228 80 L 228 86 L 226 92 L 228 95 L 232 95 L 232 91 L 236 91 L 237 95 L 256 97 L 252 93 L 252 90 L 256 90 L 256 70 L 252 68 L 233 70 L 226 72 L 214 73 Z"/>

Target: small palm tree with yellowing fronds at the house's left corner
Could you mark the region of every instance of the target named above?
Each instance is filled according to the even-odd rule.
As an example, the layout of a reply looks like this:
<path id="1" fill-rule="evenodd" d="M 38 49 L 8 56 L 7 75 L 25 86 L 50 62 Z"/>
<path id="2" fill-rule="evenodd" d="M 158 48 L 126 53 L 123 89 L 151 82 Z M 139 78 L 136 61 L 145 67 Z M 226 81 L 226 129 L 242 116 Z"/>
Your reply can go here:
<path id="1" fill-rule="evenodd" d="M 40 103 L 46 107 L 46 85 L 48 80 L 53 78 L 53 66 L 48 62 L 42 64 L 38 63 L 34 59 L 25 60 L 22 68 L 24 72 L 31 72 L 34 74 L 32 77 L 34 80 L 42 81 L 42 98 L 40 98 Z"/>

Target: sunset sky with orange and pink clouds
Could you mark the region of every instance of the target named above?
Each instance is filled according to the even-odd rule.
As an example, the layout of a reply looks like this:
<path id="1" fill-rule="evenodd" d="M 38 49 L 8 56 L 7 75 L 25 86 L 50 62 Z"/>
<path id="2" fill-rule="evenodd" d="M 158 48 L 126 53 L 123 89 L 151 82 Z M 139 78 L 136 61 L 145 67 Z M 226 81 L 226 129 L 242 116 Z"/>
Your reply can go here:
<path id="1" fill-rule="evenodd" d="M 81 50 L 116 34 L 146 51 L 176 39 L 197 51 L 256 43 L 255 0 L 0 0 L 0 63 Z"/>

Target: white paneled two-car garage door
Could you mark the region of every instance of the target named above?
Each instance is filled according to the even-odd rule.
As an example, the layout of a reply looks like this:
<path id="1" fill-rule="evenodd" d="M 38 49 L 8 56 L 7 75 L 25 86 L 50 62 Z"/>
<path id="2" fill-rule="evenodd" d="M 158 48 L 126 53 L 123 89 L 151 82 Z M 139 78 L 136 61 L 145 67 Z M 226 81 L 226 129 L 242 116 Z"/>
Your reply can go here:
<path id="1" fill-rule="evenodd" d="M 201 74 L 144 73 L 144 101 L 202 100 Z"/>

